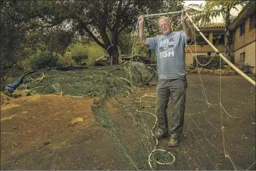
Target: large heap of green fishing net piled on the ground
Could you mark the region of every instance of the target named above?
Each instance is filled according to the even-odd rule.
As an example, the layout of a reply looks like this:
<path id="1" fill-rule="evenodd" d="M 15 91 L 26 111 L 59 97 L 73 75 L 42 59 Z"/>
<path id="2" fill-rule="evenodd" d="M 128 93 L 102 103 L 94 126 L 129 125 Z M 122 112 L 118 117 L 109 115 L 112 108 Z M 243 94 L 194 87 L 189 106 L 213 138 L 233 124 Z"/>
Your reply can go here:
<path id="1" fill-rule="evenodd" d="M 82 70 L 39 70 L 26 75 L 16 91 L 105 98 L 130 94 L 135 87 L 155 84 L 157 72 L 154 69 L 140 62 L 126 62 Z"/>

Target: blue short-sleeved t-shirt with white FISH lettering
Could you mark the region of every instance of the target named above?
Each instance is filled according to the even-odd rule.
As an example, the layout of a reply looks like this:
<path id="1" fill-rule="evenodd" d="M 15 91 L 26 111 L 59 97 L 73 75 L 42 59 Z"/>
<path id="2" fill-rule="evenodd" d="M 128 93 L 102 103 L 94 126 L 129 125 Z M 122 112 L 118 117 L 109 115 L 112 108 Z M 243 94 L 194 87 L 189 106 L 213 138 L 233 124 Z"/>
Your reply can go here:
<path id="1" fill-rule="evenodd" d="M 161 80 L 182 77 L 185 72 L 185 34 L 171 32 L 168 35 L 150 37 L 150 49 L 157 54 L 157 74 Z"/>

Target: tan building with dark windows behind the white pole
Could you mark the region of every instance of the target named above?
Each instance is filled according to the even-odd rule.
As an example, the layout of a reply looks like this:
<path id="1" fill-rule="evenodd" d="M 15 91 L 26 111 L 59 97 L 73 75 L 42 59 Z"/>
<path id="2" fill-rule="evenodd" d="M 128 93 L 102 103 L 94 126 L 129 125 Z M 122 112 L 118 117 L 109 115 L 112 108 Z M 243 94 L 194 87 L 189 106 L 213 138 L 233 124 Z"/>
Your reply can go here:
<path id="1" fill-rule="evenodd" d="M 235 63 L 244 65 L 251 65 L 252 72 L 255 73 L 255 27 L 256 27 L 256 11 L 255 1 L 249 3 L 240 11 L 238 16 L 231 23 L 231 55 L 234 56 Z M 207 27 L 201 27 L 200 30 L 209 42 L 224 53 L 224 23 L 214 23 Z M 190 50 L 197 56 L 213 56 L 214 50 L 207 44 L 200 34 L 195 34 L 197 45 L 192 44 L 189 46 Z M 190 53 L 188 47 L 185 48 L 186 64 L 193 63 L 193 55 Z"/>

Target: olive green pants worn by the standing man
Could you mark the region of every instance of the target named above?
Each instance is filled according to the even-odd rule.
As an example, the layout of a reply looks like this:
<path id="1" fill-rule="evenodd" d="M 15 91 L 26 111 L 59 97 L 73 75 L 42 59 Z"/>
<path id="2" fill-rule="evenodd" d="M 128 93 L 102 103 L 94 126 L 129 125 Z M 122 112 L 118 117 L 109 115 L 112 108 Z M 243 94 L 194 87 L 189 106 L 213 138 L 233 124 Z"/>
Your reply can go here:
<path id="1" fill-rule="evenodd" d="M 185 113 L 185 90 L 187 89 L 187 79 L 185 76 L 175 80 L 161 80 L 157 84 L 157 127 L 158 131 L 168 133 L 168 118 L 166 109 L 169 99 L 171 101 L 171 137 L 180 139 L 183 131 L 184 113 Z"/>

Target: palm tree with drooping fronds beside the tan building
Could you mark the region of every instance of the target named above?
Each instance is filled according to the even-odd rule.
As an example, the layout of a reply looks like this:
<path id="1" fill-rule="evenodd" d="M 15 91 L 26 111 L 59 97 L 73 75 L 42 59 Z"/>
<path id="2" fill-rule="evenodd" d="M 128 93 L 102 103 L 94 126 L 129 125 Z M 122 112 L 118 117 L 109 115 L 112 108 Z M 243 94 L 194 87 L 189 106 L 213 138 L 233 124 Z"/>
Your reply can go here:
<path id="1" fill-rule="evenodd" d="M 221 16 L 224 18 L 225 23 L 225 56 L 229 61 L 234 62 L 234 59 L 231 58 L 231 9 L 236 8 L 236 6 L 245 6 L 248 1 L 243 0 L 234 0 L 234 1 L 205 1 L 205 6 L 198 4 L 191 4 L 190 6 L 199 8 L 202 10 L 201 13 L 193 13 L 193 18 L 195 22 L 200 23 L 200 25 L 206 25 L 210 23 L 212 18 Z"/>

